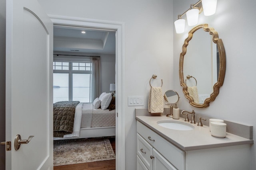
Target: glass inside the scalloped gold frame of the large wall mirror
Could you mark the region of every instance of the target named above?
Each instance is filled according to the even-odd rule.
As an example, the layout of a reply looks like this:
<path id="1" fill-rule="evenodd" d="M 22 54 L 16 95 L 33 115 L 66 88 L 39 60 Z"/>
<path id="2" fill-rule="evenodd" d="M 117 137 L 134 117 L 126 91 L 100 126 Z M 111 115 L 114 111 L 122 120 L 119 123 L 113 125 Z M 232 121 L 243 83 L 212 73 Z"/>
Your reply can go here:
<path id="1" fill-rule="evenodd" d="M 196 86 L 198 100 L 194 102 L 198 104 L 203 104 L 204 100 L 210 97 L 213 86 L 217 82 L 217 70 L 220 67 L 217 51 L 218 47 L 212 41 L 212 35 L 203 29 L 198 29 L 193 34 L 187 46 L 183 63 L 183 78 L 188 87 Z"/>

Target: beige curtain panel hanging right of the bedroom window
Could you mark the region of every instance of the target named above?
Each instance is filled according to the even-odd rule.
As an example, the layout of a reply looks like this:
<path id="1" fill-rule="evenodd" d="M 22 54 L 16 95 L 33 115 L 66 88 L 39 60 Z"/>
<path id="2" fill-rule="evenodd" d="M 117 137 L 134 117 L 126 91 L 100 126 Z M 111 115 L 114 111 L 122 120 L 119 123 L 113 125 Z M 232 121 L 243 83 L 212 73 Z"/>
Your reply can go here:
<path id="1" fill-rule="evenodd" d="M 92 102 L 100 96 L 100 57 L 91 57 L 92 63 Z"/>

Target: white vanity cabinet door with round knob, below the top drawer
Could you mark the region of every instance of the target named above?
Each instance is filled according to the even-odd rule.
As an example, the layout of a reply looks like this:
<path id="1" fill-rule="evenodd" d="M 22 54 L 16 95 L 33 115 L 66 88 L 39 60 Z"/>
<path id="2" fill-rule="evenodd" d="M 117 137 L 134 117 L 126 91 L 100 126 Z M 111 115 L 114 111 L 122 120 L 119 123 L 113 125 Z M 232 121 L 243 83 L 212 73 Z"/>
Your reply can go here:
<path id="1" fill-rule="evenodd" d="M 153 148 L 153 170 L 177 170 L 159 152 Z"/>

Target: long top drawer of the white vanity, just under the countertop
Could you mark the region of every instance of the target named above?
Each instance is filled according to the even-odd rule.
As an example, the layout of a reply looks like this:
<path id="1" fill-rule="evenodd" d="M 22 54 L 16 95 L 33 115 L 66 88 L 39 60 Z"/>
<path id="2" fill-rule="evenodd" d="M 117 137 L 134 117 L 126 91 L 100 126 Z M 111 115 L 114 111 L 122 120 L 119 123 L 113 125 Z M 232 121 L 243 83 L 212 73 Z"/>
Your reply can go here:
<path id="1" fill-rule="evenodd" d="M 137 121 L 137 132 L 177 169 L 185 169 L 185 152 Z"/>

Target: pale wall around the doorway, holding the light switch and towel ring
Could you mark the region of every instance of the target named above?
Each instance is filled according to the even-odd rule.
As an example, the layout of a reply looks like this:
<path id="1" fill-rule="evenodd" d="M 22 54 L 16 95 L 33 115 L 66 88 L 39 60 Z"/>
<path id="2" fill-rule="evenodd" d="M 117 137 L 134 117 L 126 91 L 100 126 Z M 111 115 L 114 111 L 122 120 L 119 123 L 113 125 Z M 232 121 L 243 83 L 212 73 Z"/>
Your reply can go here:
<path id="1" fill-rule="evenodd" d="M 125 23 L 124 95 L 144 96 L 149 80 L 163 91 L 173 89 L 173 0 L 38 0 L 47 14 Z M 135 107 L 125 106 L 126 170 L 136 169 Z"/>

